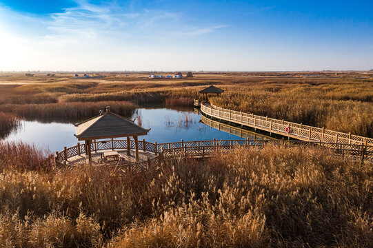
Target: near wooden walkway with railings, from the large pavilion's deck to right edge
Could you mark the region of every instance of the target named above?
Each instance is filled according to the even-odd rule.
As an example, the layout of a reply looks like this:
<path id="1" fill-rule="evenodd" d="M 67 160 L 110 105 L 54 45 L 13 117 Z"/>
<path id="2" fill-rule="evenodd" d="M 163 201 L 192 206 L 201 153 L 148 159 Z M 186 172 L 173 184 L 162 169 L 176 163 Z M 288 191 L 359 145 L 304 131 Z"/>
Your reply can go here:
<path id="1" fill-rule="evenodd" d="M 241 140 L 212 140 L 212 141 L 179 141 L 172 143 L 150 143 L 147 141 L 139 141 L 139 162 L 134 162 L 134 147 L 135 141 L 130 141 L 131 147 L 130 156 L 126 153 L 127 141 L 125 140 L 107 140 L 94 141 L 91 145 L 93 152 L 93 164 L 97 165 L 101 153 L 105 151 L 117 151 L 125 158 L 125 165 L 122 167 L 137 169 L 143 171 L 151 164 L 158 163 L 159 158 L 163 156 L 194 156 L 205 157 L 210 156 L 214 152 L 228 152 L 238 147 L 247 147 L 261 149 L 266 145 L 285 146 L 285 147 L 317 147 L 319 149 L 330 149 L 336 156 L 346 156 L 358 159 L 360 161 L 373 161 L 373 146 L 359 144 L 341 144 L 341 143 L 325 143 L 325 142 L 310 142 L 310 141 L 288 141 L 288 140 L 260 140 L 260 139 L 241 139 Z M 62 152 L 57 152 L 55 161 L 59 165 L 79 165 L 86 163 L 85 145 L 78 144 L 74 147 L 63 149 Z M 161 156 L 159 156 L 161 154 Z"/>

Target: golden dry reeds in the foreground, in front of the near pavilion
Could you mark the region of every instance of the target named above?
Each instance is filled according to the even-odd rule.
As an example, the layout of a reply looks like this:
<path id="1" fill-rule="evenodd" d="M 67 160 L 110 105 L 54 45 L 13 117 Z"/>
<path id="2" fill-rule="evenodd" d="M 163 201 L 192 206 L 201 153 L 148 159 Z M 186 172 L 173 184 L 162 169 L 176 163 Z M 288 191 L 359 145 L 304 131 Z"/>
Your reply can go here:
<path id="1" fill-rule="evenodd" d="M 327 150 L 238 149 L 119 176 L 1 143 L 0 172 L 1 247 L 373 246 L 373 165 Z"/>

